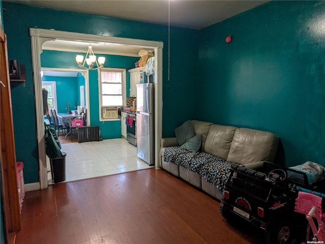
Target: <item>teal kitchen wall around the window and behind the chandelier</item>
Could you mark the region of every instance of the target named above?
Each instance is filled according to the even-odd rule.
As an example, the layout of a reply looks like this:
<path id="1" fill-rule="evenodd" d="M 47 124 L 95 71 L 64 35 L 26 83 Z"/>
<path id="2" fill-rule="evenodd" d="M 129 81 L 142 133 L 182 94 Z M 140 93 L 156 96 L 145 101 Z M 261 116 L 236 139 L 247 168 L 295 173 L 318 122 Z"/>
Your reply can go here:
<path id="1" fill-rule="evenodd" d="M 77 63 L 75 62 L 75 57 L 77 53 L 73 52 L 59 52 L 59 51 L 48 51 L 44 50 L 41 54 L 41 65 L 43 67 L 55 67 L 55 68 L 63 68 L 64 66 L 72 66 L 70 68 L 78 68 Z M 79 53 L 78 53 L 79 54 Z M 114 68 L 133 68 L 134 63 L 139 58 L 136 57 L 126 57 L 126 56 L 118 56 L 118 55 L 103 55 L 105 59 L 105 67 L 114 67 Z M 126 71 L 126 95 L 129 95 L 129 73 Z M 65 93 L 69 92 L 67 87 L 62 87 L 62 89 L 66 89 Z M 76 93 L 79 93 L 79 86 L 76 85 L 75 89 Z M 59 90 L 57 87 L 56 94 L 60 98 L 66 96 L 61 96 L 64 94 L 63 90 Z M 75 94 L 77 96 L 77 94 Z M 78 99 L 78 97 L 77 97 Z M 79 96 L 80 99 L 80 96 Z M 64 99 L 63 99 L 64 100 Z M 72 100 L 74 101 L 74 100 Z M 79 101 L 79 100 L 75 100 Z M 64 109 L 67 107 L 67 100 L 64 102 Z M 71 104 L 71 100 L 70 100 Z M 73 103 L 75 104 L 75 102 Z M 113 138 L 121 138 L 121 122 L 120 121 L 100 121 L 100 113 L 99 113 L 99 86 L 98 86 L 98 70 L 90 70 L 89 71 L 89 110 L 88 116 L 90 116 L 90 126 L 100 126 L 101 136 L 103 139 L 113 139 Z M 71 107 L 71 109 L 73 109 Z M 59 107 L 58 110 L 60 111 Z M 89 113 L 90 111 L 90 113 Z M 61 111 L 64 112 L 64 111 Z M 66 111 L 65 111 L 66 112 Z"/>

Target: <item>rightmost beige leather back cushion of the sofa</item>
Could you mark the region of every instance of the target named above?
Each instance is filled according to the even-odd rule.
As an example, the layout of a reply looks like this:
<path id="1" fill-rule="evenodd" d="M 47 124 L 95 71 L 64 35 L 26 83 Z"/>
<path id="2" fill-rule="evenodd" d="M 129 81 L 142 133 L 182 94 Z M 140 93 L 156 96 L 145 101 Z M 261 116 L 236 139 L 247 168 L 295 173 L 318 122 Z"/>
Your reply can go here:
<path id="1" fill-rule="evenodd" d="M 228 161 L 245 165 L 251 162 L 273 162 L 279 138 L 270 132 L 238 128 L 234 134 Z"/>

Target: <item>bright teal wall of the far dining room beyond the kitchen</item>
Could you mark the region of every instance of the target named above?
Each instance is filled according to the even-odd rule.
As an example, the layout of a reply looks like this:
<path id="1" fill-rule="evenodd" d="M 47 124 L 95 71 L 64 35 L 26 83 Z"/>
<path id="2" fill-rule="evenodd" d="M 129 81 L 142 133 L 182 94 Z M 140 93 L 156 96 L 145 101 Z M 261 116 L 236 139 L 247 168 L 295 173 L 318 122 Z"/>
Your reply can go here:
<path id="1" fill-rule="evenodd" d="M 70 110 L 76 110 L 78 102 L 78 80 L 77 77 L 43 76 L 44 82 L 55 82 L 57 97 L 57 112 L 66 113 L 69 101 Z"/>

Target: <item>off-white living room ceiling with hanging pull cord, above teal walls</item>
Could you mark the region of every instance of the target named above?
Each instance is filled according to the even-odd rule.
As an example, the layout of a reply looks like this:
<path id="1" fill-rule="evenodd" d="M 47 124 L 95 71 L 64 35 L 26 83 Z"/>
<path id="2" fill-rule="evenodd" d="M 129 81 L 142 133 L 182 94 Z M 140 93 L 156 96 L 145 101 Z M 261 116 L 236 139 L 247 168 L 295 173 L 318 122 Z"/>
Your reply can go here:
<path id="1" fill-rule="evenodd" d="M 269 1 L 4 0 L 3 2 L 163 25 L 168 25 L 170 3 L 171 26 L 202 29 Z"/>

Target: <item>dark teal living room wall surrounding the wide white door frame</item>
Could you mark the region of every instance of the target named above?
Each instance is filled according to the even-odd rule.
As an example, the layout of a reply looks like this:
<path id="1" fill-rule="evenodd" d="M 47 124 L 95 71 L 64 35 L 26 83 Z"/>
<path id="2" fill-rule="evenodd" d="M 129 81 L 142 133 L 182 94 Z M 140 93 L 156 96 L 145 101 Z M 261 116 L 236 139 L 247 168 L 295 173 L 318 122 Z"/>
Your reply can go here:
<path id="1" fill-rule="evenodd" d="M 4 2 L 3 7 L 6 9 L 3 18 L 8 38 L 9 60 L 16 59 L 20 64 L 26 66 L 25 87 L 15 85 L 11 90 L 16 157 L 18 161 L 24 162 L 25 183 L 39 181 L 35 100 L 28 28 L 37 27 L 164 42 L 163 137 L 173 136 L 173 130 L 189 116 L 196 117 L 196 111 L 193 110 L 196 101 L 192 97 L 196 95 L 195 82 L 197 80 L 194 77 L 197 74 L 198 63 L 198 30 L 171 27 L 171 68 L 168 80 L 168 26 L 34 8 L 8 2 Z M 168 2 L 166 2 L 167 10 Z M 60 60 L 60 62 L 66 64 L 64 68 L 75 67 L 74 61 Z M 44 65 L 44 67 L 46 66 Z M 134 67 L 134 63 L 131 67 Z M 25 126 L 21 126 L 22 114 L 24 115 L 24 125 L 30 125 L 28 130 Z"/>

